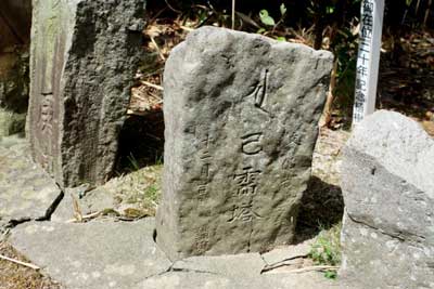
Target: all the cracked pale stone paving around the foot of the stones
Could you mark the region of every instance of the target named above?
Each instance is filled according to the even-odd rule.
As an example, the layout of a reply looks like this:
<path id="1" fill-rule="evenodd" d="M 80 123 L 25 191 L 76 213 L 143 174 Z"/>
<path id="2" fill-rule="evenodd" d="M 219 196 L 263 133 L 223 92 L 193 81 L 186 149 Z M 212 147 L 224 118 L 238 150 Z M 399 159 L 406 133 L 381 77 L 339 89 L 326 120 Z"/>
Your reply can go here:
<path id="1" fill-rule="evenodd" d="M 62 193 L 27 158 L 26 147 L 25 140 L 15 136 L 0 142 L 0 225 L 9 231 L 7 241 L 64 288 L 343 287 L 341 281 L 326 279 L 309 268 L 309 240 L 264 254 L 173 262 L 154 241 L 153 218 L 126 221 L 131 219 L 110 210 L 113 200 L 102 193 L 101 197 L 89 194 L 89 199 L 74 200 L 71 195 L 77 196 L 84 188 L 67 191 L 51 214 L 49 209 L 54 209 L 53 202 Z M 90 199 L 93 207 L 88 206 Z M 40 218 L 51 221 L 37 221 Z"/>

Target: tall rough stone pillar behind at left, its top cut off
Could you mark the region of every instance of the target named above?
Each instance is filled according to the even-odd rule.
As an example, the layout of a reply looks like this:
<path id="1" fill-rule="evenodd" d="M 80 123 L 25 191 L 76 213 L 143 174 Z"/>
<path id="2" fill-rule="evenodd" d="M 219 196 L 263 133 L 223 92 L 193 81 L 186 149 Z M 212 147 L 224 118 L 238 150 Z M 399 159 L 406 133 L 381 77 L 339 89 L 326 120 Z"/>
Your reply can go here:
<path id="1" fill-rule="evenodd" d="M 145 0 L 34 0 L 27 135 L 63 186 L 111 175 Z"/>

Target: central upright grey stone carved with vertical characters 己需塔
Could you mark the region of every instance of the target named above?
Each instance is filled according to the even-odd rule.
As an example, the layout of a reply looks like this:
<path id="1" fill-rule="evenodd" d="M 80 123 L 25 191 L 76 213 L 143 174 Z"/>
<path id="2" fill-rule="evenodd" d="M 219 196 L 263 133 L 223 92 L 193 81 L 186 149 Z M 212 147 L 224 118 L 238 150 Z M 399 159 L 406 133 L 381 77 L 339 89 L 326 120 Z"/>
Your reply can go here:
<path id="1" fill-rule="evenodd" d="M 166 63 L 157 244 L 171 259 L 294 237 L 332 54 L 204 27 Z"/>

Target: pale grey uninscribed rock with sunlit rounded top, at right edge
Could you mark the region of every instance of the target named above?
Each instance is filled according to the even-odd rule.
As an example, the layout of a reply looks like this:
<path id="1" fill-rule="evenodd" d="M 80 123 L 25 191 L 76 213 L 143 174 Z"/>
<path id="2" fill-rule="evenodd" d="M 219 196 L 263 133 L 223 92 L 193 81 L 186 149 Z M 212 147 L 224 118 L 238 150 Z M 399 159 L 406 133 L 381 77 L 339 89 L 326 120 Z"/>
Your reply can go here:
<path id="1" fill-rule="evenodd" d="M 434 288 L 434 140 L 381 110 L 344 149 L 342 275 L 362 288 Z"/>

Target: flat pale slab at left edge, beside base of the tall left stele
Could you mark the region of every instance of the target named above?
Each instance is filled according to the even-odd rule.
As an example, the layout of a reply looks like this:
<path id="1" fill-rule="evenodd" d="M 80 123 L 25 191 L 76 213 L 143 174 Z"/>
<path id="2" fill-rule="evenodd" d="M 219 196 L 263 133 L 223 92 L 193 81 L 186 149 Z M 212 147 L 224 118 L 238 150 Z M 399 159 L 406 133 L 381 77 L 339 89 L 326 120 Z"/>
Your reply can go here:
<path id="1" fill-rule="evenodd" d="M 36 220 L 50 215 L 62 192 L 52 179 L 28 157 L 24 139 L 0 139 L 0 219 Z"/>

